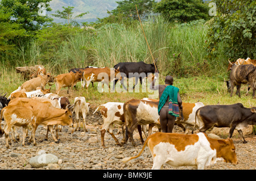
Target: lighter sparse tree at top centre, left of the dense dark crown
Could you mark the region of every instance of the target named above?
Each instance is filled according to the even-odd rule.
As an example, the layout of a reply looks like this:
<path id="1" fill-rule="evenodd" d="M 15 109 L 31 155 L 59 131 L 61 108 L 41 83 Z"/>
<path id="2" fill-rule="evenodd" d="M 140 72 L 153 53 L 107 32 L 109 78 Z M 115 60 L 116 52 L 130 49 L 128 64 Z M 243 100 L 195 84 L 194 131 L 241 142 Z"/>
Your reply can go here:
<path id="1" fill-rule="evenodd" d="M 137 19 L 137 10 L 135 5 L 137 5 L 138 13 L 140 18 L 147 18 L 148 14 L 152 11 L 154 0 L 124 0 L 117 1 L 118 6 L 112 10 L 112 14 L 118 15 L 123 14 L 126 17 Z"/>

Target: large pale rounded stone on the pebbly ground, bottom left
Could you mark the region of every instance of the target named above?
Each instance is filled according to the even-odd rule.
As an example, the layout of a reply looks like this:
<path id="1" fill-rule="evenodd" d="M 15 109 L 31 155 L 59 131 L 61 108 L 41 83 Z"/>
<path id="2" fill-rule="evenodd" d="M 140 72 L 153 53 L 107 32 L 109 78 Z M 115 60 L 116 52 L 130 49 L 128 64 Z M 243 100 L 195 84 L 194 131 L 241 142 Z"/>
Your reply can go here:
<path id="1" fill-rule="evenodd" d="M 56 155 L 51 153 L 48 154 L 40 154 L 35 157 L 30 158 L 28 163 L 34 168 L 40 168 L 47 166 L 49 163 L 58 163 L 59 159 Z"/>

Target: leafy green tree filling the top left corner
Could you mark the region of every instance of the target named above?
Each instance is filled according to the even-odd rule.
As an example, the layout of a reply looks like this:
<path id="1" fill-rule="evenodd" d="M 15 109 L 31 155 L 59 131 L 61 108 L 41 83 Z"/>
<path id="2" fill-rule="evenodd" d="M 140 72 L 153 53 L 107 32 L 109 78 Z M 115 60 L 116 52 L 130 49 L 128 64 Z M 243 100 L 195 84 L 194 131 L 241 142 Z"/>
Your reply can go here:
<path id="1" fill-rule="evenodd" d="M 39 3 L 44 3 L 45 11 L 51 11 L 49 7 L 51 0 L 2 0 L 0 7 L 3 13 L 11 15 L 10 23 L 19 24 L 20 28 L 28 34 L 39 30 L 44 23 L 51 22 L 52 18 L 47 15 L 39 15 Z"/>

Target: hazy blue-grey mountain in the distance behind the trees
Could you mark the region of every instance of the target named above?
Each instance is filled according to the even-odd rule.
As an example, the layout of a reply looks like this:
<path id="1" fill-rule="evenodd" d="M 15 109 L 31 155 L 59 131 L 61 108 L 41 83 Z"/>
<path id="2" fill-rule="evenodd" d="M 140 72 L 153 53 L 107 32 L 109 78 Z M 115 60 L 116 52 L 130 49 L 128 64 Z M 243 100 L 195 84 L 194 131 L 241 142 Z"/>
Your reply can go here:
<path id="1" fill-rule="evenodd" d="M 63 10 L 64 7 L 73 6 L 74 16 L 82 12 L 89 11 L 83 18 L 76 19 L 77 22 L 94 22 L 97 18 L 104 18 L 108 16 L 107 10 L 111 11 L 117 7 L 118 0 L 52 0 L 49 4 L 52 9 L 48 12 L 49 16 L 54 14 L 56 10 Z M 64 19 L 51 16 L 56 23 L 65 22 Z"/>

